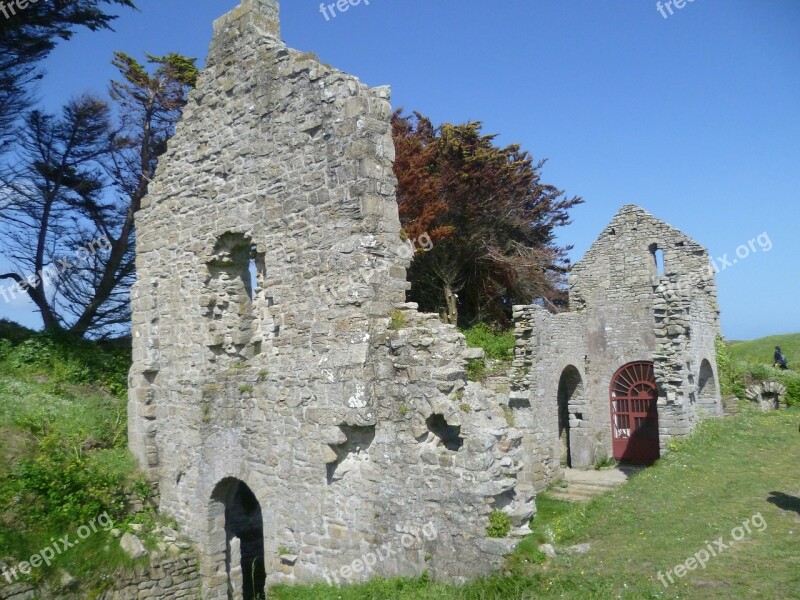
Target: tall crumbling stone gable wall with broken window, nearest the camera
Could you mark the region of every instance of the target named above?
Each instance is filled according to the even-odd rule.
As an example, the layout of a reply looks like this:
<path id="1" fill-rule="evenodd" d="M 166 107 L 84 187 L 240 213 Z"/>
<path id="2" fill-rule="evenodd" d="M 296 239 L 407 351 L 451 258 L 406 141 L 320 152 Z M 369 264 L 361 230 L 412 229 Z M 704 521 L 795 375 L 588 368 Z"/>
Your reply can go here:
<path id="1" fill-rule="evenodd" d="M 404 304 L 389 90 L 287 48 L 272 0 L 214 29 L 137 215 L 129 402 L 205 597 L 227 593 L 228 481 L 260 504 L 268 583 L 496 568 L 492 510 L 533 513 L 521 433 L 467 384 L 463 336 Z"/>

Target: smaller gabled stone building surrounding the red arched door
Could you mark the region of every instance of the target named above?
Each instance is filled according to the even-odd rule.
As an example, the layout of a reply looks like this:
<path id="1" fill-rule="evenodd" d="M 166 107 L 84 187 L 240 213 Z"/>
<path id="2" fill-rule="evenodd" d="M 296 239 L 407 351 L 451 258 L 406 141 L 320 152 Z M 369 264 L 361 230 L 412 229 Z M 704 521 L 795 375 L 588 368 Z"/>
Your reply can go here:
<path id="1" fill-rule="evenodd" d="M 654 363 L 662 452 L 702 416 L 721 413 L 719 309 L 702 246 L 624 206 L 574 265 L 569 284 L 572 312 L 515 307 L 512 406 L 523 407 L 514 420 L 525 432 L 526 455 L 539 457 L 524 471 L 537 490 L 566 464 L 587 468 L 611 455 L 609 386 L 628 363 Z"/>

